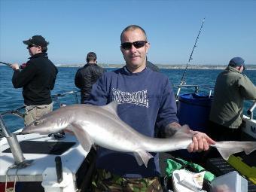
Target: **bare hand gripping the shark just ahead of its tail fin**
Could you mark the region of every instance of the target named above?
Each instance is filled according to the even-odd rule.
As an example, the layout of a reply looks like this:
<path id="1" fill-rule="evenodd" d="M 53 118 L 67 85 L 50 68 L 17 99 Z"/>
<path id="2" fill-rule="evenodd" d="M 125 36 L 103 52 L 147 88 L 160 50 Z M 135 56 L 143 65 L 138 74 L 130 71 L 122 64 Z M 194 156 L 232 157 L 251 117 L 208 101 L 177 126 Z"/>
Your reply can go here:
<path id="1" fill-rule="evenodd" d="M 192 143 L 188 146 L 187 151 L 195 152 L 195 151 L 207 151 L 209 150 L 209 145 L 214 145 L 215 141 L 212 140 L 206 133 L 201 133 L 199 131 L 192 131 L 190 133 L 193 134 Z"/>

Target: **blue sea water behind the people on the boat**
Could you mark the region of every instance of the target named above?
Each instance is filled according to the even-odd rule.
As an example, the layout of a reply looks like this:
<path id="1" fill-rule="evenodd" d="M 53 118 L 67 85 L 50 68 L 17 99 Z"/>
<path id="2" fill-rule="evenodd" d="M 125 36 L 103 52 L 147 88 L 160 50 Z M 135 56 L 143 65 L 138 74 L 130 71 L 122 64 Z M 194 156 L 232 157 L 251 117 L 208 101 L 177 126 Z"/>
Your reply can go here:
<path id="1" fill-rule="evenodd" d="M 51 92 L 52 95 L 58 93 L 66 93 L 71 90 L 79 91 L 75 87 L 74 79 L 75 73 L 78 68 L 76 67 L 59 67 L 59 73 L 56 78 L 56 84 Z M 107 69 L 108 71 L 114 70 Z M 181 77 L 184 73 L 184 69 L 160 69 L 160 72 L 167 75 L 172 83 L 174 93 L 177 92 L 178 84 L 180 84 Z M 209 94 L 213 91 L 215 86 L 215 80 L 218 74 L 222 70 L 212 70 L 212 69 L 187 69 L 185 74 L 186 84 L 200 85 L 200 93 Z M 245 75 L 251 79 L 251 81 L 256 85 L 256 71 L 255 70 L 245 70 Z M 23 105 L 22 88 L 14 89 L 11 78 L 13 75 L 13 70 L 7 66 L 0 66 L 0 113 L 3 111 L 13 110 L 14 108 L 19 108 Z M 194 87 L 182 88 L 180 94 L 184 93 L 194 93 Z M 80 96 L 80 95 L 79 95 Z M 70 105 L 75 103 L 75 96 L 72 94 L 61 97 L 60 102 Z M 80 101 L 80 98 L 78 98 Z M 246 101 L 244 107 L 244 113 L 252 105 L 252 101 Z M 54 108 L 58 105 L 55 103 Z M 256 119 L 256 111 L 254 112 L 254 119 Z M 8 114 L 4 116 L 5 125 L 8 129 L 13 132 L 23 127 L 23 119 L 13 114 Z"/>

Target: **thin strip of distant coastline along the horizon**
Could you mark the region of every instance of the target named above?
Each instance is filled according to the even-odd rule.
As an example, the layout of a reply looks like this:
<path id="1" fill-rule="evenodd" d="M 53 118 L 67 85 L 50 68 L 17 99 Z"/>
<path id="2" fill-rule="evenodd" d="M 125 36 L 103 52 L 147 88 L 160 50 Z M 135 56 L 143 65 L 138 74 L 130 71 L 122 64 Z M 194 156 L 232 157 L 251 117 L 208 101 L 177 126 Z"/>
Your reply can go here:
<path id="1" fill-rule="evenodd" d="M 98 63 L 99 66 L 103 68 L 121 68 L 122 64 L 105 64 Z M 83 67 L 84 64 L 57 64 L 57 67 Z M 186 65 L 164 65 L 156 64 L 160 69 L 185 69 Z M 227 65 L 189 65 L 187 69 L 225 69 Z M 256 70 L 256 65 L 246 65 L 246 70 Z"/>

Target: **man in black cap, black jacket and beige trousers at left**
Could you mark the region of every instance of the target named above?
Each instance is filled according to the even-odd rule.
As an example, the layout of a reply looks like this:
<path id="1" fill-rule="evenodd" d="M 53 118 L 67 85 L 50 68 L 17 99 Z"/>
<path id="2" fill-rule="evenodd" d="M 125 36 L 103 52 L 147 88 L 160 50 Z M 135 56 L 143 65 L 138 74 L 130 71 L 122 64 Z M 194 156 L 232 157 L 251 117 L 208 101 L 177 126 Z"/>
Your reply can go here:
<path id="1" fill-rule="evenodd" d="M 44 37 L 34 35 L 29 40 L 23 41 L 29 50 L 29 61 L 23 70 L 14 63 L 12 82 L 14 88 L 23 87 L 23 98 L 26 105 L 24 123 L 28 126 L 44 114 L 53 110 L 50 90 L 53 90 L 58 70 L 53 62 L 48 59 L 47 45 Z"/>

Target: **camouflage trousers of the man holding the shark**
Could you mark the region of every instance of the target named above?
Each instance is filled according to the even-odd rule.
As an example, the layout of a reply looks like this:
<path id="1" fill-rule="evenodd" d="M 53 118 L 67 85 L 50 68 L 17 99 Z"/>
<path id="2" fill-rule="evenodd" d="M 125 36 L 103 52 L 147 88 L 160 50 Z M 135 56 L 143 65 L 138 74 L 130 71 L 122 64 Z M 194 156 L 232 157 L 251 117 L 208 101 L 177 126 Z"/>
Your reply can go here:
<path id="1" fill-rule="evenodd" d="M 163 191 L 159 178 L 122 178 L 105 169 L 96 169 L 93 175 L 94 192 L 160 192 Z"/>

